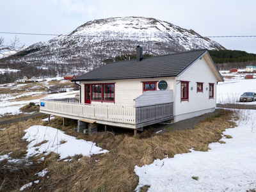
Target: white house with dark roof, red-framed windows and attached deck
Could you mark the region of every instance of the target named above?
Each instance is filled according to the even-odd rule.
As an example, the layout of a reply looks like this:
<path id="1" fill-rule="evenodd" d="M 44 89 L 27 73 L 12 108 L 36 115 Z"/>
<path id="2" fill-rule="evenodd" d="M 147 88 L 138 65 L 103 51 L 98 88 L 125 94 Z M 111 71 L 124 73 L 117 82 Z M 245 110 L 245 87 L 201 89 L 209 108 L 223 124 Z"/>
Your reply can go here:
<path id="1" fill-rule="evenodd" d="M 224 81 L 206 49 L 108 63 L 72 80 L 80 103 L 42 100 L 40 111 L 129 129 L 165 120 L 178 122 L 216 108 L 216 85 Z"/>

